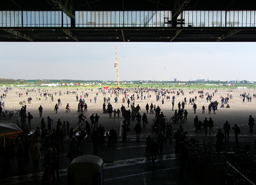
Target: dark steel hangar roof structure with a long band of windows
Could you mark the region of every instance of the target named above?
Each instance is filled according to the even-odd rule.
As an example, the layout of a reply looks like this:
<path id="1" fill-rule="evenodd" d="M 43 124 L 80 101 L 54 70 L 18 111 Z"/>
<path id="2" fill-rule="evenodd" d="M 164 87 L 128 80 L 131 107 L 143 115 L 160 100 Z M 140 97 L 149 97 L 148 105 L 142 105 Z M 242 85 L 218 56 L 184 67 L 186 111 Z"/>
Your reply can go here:
<path id="1" fill-rule="evenodd" d="M 250 0 L 3 0 L 0 42 L 255 42 Z"/>

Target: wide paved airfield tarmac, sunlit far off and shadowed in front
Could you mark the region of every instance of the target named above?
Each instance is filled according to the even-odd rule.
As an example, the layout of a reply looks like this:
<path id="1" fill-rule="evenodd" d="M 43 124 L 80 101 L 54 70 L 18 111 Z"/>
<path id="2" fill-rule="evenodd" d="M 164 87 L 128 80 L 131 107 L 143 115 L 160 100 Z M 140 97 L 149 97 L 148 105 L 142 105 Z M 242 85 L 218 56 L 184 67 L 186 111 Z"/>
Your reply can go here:
<path id="1" fill-rule="evenodd" d="M 54 94 L 54 92 L 57 92 L 57 95 L 54 95 L 54 101 L 51 102 L 50 98 L 45 100 L 45 98 L 42 98 L 41 100 L 36 100 L 35 96 L 38 95 L 37 92 L 29 92 L 28 95 L 25 94 L 25 90 L 21 89 L 14 89 L 7 93 L 7 98 L 3 99 L 6 102 L 5 109 L 6 110 L 15 110 L 20 109 L 21 105 L 19 105 L 19 101 L 26 100 L 29 96 L 31 96 L 32 101 L 31 104 L 27 103 L 27 112 L 31 112 L 31 114 L 34 116 L 34 119 L 31 120 L 31 130 L 34 130 L 37 126 L 40 126 L 41 118 L 39 118 L 39 111 L 38 107 L 42 105 L 43 107 L 43 115 L 42 117 L 45 118 L 47 116 L 50 116 L 51 119 L 54 120 L 54 123 L 52 124 L 52 128 L 55 127 L 56 122 L 58 119 L 61 119 L 63 122 L 69 121 L 70 128 L 77 127 L 77 121 L 78 121 L 78 113 L 77 113 L 77 99 L 76 95 L 74 94 L 63 94 L 62 96 L 59 96 L 59 90 L 62 92 L 64 91 L 76 91 L 76 89 L 52 89 L 51 93 Z M 15 92 L 23 92 L 23 97 L 19 97 L 18 94 Z M 50 91 L 50 89 L 49 89 Z M 81 89 L 78 89 L 78 95 L 81 95 Z M 176 90 L 174 90 L 176 91 Z M 177 96 L 175 95 L 175 106 L 174 110 L 178 109 L 178 102 L 182 102 L 184 98 L 187 98 L 187 104 L 185 105 L 185 109 L 189 113 L 187 115 L 187 122 L 182 123 L 182 126 L 185 131 L 189 133 L 190 138 L 196 138 L 198 140 L 209 140 L 209 135 L 205 135 L 203 132 L 201 133 L 195 133 L 194 132 L 194 125 L 193 125 L 193 119 L 195 115 L 198 115 L 199 120 L 202 120 L 207 118 L 213 119 L 214 122 L 214 136 L 217 133 L 217 130 L 219 127 L 222 128 L 223 124 L 226 120 L 229 121 L 231 124 L 231 127 L 234 124 L 238 124 L 238 126 L 241 128 L 241 134 L 239 134 L 239 143 L 241 144 L 251 144 L 253 145 L 253 142 L 256 138 L 255 134 L 252 134 L 249 132 L 249 126 L 248 126 L 248 119 L 249 115 L 252 115 L 254 118 L 256 118 L 256 112 L 255 112 L 255 104 L 256 99 L 252 98 L 251 102 L 245 101 L 245 104 L 242 103 L 242 98 L 240 98 L 240 94 L 243 92 L 246 92 L 246 94 L 250 94 L 253 97 L 253 94 L 255 93 L 255 90 L 253 89 L 232 89 L 233 93 L 233 99 L 229 100 L 230 108 L 220 108 L 221 104 L 221 95 L 226 97 L 227 93 L 231 93 L 228 90 L 218 90 L 218 93 L 215 93 L 213 96 L 213 101 L 217 100 L 219 102 L 218 110 L 216 111 L 216 114 L 213 114 L 213 111 L 211 114 L 208 114 L 208 105 L 209 103 L 206 102 L 206 97 L 204 99 L 197 98 L 197 101 L 195 103 L 197 104 L 197 113 L 194 114 L 194 111 L 192 109 L 192 105 L 189 103 L 189 98 L 193 98 L 194 96 L 199 96 L 197 90 L 193 94 L 189 94 L 189 91 L 192 90 L 185 90 L 185 95 Z M 214 92 L 214 89 L 205 89 L 204 92 L 209 92 L 211 94 Z M 216 179 L 216 176 L 213 175 L 212 172 L 207 172 L 207 174 L 203 175 L 201 178 L 197 178 L 197 176 L 185 176 L 185 178 L 180 179 L 177 177 L 179 174 L 179 156 L 175 155 L 174 152 L 174 145 L 166 144 L 164 146 L 163 155 L 158 155 L 158 160 L 156 162 L 156 167 L 152 167 L 151 165 L 151 159 L 150 156 L 145 156 L 145 144 L 146 144 L 146 137 L 148 135 L 151 135 L 153 137 L 153 134 L 151 134 L 150 127 L 152 124 L 152 119 L 155 115 L 153 114 L 147 114 L 147 118 L 149 120 L 149 124 L 147 124 L 146 128 L 142 129 L 141 133 L 141 141 L 136 142 L 135 138 L 135 132 L 133 131 L 133 128 L 136 124 L 136 122 L 131 122 L 131 131 L 127 132 L 127 142 L 120 142 L 119 140 L 122 139 L 122 118 L 109 118 L 108 114 L 103 114 L 102 112 L 102 104 L 103 104 L 103 97 L 106 96 L 106 98 L 110 97 L 110 103 L 113 106 L 113 110 L 117 108 L 121 108 L 122 104 L 126 107 L 127 110 L 127 103 L 122 103 L 122 98 L 124 95 L 119 94 L 118 97 L 118 103 L 114 103 L 114 95 L 110 96 L 110 93 L 106 91 L 106 95 L 103 95 L 101 91 L 98 89 L 91 90 L 83 90 L 83 92 L 89 92 L 89 98 L 85 98 L 85 101 L 88 105 L 88 112 L 85 116 L 90 116 L 91 113 L 94 112 L 97 113 L 101 118 L 99 118 L 99 124 L 102 124 L 102 126 L 105 127 L 106 131 L 109 131 L 112 128 L 115 128 L 117 131 L 118 136 L 118 142 L 115 146 L 111 147 L 99 147 L 99 154 L 103 161 L 105 162 L 104 166 L 104 184 L 216 184 L 218 183 L 218 180 Z M 98 92 L 97 96 L 97 102 L 94 103 L 94 96 L 96 96 L 96 93 Z M 1 91 L 3 93 L 3 91 Z M 133 92 L 128 92 L 127 94 L 132 95 Z M 167 102 L 165 99 L 165 103 L 162 104 L 161 100 L 158 102 L 156 101 L 154 92 L 150 92 L 151 99 L 146 98 L 146 100 L 136 100 L 135 99 L 135 106 L 139 104 L 141 107 L 141 115 L 143 112 L 146 112 L 145 106 L 146 103 L 155 104 L 156 106 L 159 106 L 161 108 L 161 111 L 163 114 L 169 119 L 171 116 L 173 116 L 174 111 L 171 110 L 171 100 L 170 102 Z M 204 93 L 205 94 L 205 93 Z M 136 96 L 136 94 L 135 94 Z M 170 94 L 170 98 L 173 96 L 173 94 Z M 54 105 L 57 102 L 57 99 L 60 98 L 62 102 L 62 106 L 59 106 L 58 114 L 55 114 L 54 111 Z M 92 103 L 90 103 L 90 98 L 92 99 Z M 66 104 L 70 104 L 71 112 L 66 113 L 65 112 L 65 106 Z M 202 106 L 206 107 L 205 114 L 202 114 Z M 3 120 L 3 122 L 13 122 L 15 123 L 15 119 L 12 120 Z M 89 121 L 90 123 L 90 121 Z M 177 130 L 179 127 L 179 123 L 172 124 L 174 131 Z M 174 141 L 173 141 L 174 143 Z M 234 132 L 233 130 L 230 130 L 230 147 L 234 146 Z M 50 145 L 43 145 L 45 150 L 42 152 L 42 156 L 46 153 L 47 148 L 53 147 Z M 69 165 L 69 159 L 66 158 L 67 151 L 69 150 L 69 141 L 65 140 L 65 147 L 67 148 L 65 151 L 63 151 L 60 156 L 60 162 L 61 162 L 61 170 L 60 175 L 62 182 L 53 182 L 53 184 L 67 184 L 67 171 L 66 168 Z M 252 150 L 254 149 L 254 146 L 251 147 Z M 91 142 L 86 141 L 85 143 L 82 143 L 81 150 L 83 151 L 83 154 L 93 154 L 93 146 Z M 62 158 L 63 156 L 63 158 Z M 221 162 L 221 156 L 217 156 L 216 158 L 218 163 Z M 43 160 L 39 162 L 39 166 L 41 166 L 41 163 L 43 163 Z M 17 173 L 17 165 L 13 167 L 13 170 L 7 175 L 6 178 L 0 180 L 1 184 L 35 184 L 35 183 L 41 183 L 40 178 L 43 172 L 43 167 L 38 168 L 37 170 L 34 170 L 30 166 L 27 166 L 26 172 L 22 176 L 16 176 Z M 209 178 L 213 178 L 213 180 L 209 181 Z"/>

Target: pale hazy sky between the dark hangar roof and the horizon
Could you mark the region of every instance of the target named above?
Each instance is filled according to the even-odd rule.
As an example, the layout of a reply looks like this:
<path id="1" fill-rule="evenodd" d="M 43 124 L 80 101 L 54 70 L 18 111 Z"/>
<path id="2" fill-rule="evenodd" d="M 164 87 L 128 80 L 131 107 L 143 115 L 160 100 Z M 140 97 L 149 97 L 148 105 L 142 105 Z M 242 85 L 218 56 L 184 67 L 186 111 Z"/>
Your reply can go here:
<path id="1" fill-rule="evenodd" d="M 256 43 L 0 42 L 0 78 L 256 81 Z"/>

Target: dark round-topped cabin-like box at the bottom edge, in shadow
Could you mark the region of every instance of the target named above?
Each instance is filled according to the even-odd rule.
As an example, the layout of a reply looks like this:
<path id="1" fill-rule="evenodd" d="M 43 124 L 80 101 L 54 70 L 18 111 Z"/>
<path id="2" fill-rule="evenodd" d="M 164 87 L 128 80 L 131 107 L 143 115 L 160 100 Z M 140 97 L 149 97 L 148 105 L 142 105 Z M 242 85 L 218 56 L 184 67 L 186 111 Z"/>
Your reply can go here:
<path id="1" fill-rule="evenodd" d="M 67 168 L 67 184 L 103 184 L 103 160 L 95 155 L 83 155 L 75 158 Z"/>

